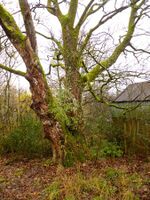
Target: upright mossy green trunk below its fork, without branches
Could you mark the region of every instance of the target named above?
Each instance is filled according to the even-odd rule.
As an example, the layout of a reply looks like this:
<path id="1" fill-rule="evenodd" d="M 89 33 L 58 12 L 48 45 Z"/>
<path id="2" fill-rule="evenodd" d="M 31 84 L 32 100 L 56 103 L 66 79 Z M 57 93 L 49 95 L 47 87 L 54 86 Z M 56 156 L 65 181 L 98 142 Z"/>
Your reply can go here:
<path id="1" fill-rule="evenodd" d="M 82 112 L 82 92 L 83 85 L 81 81 L 80 56 L 77 50 L 78 31 L 72 28 L 68 23 L 62 27 L 63 30 L 63 58 L 65 62 L 65 88 L 69 91 L 70 101 L 73 107 L 67 116 L 70 118 L 71 124 L 67 126 L 68 130 L 73 134 L 82 132 L 83 112 Z M 73 119 L 73 120 L 72 120 Z"/>

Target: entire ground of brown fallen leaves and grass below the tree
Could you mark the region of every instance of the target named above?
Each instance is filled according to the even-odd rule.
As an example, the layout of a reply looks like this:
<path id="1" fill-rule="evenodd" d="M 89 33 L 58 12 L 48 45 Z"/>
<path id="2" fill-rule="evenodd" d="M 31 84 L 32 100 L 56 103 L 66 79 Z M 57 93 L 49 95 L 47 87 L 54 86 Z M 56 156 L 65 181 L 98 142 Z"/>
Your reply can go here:
<path id="1" fill-rule="evenodd" d="M 0 158 L 0 200 L 148 200 L 150 163 L 101 159 L 62 168 L 50 159 Z"/>

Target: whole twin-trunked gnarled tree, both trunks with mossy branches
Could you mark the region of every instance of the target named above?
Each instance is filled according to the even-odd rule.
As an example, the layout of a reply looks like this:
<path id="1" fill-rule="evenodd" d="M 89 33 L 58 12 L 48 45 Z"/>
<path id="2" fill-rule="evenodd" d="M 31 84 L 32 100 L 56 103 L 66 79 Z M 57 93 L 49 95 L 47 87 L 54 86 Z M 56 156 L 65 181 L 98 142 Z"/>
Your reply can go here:
<path id="1" fill-rule="evenodd" d="M 108 9 L 105 12 L 105 6 L 110 3 L 109 0 L 89 0 L 85 3 L 84 10 L 79 15 L 79 19 L 77 19 L 77 12 L 82 2 L 78 0 L 70 0 L 67 2 L 48 0 L 47 5 L 40 3 L 35 5 L 34 8 L 44 7 L 48 10 L 51 15 L 57 17 L 61 25 L 62 42 L 58 41 L 54 36 L 49 37 L 49 39 L 56 43 L 63 58 L 63 63 L 60 64 L 60 67 L 63 66 L 65 71 L 64 85 L 71 93 L 72 101 L 75 100 L 78 103 L 78 109 L 76 111 L 73 110 L 67 113 L 68 117 L 71 115 L 76 118 L 76 124 L 72 124 L 72 128 L 77 132 L 80 131 L 81 127 L 81 102 L 84 88 L 89 86 L 104 70 L 112 66 L 129 45 L 137 22 L 143 16 L 145 10 L 149 8 L 147 2 L 146 0 L 122 0 L 121 2 L 114 0 L 113 3 L 116 7 L 113 6 L 113 9 Z M 63 14 L 61 10 L 62 4 L 66 4 L 68 8 L 66 14 Z M 52 109 L 54 97 L 51 88 L 48 86 L 45 72 L 38 56 L 36 31 L 30 6 L 27 0 L 19 0 L 19 5 L 24 20 L 25 34 L 21 32 L 12 14 L 4 8 L 2 3 L 0 3 L 0 25 L 22 57 L 26 66 L 26 72 L 14 70 L 3 64 L 0 64 L 0 68 L 28 80 L 33 101 L 31 107 L 43 124 L 45 137 L 52 142 L 54 161 L 62 162 L 64 158 L 64 134 L 60 122 L 56 119 Z M 83 54 L 94 31 L 126 9 L 130 9 L 128 28 L 120 43 L 114 48 L 109 57 L 100 60 L 91 70 L 85 70 L 86 66 Z M 99 15 L 97 14 L 99 17 L 97 24 L 91 27 L 81 40 L 82 27 L 88 18 L 95 15 L 95 13 L 99 13 Z M 84 73 L 81 72 L 83 71 L 82 69 L 85 70 Z M 71 131 L 71 129 L 68 130 Z"/>

